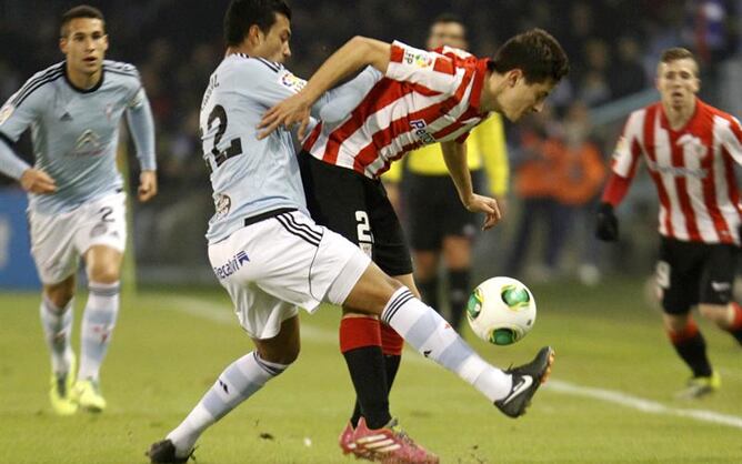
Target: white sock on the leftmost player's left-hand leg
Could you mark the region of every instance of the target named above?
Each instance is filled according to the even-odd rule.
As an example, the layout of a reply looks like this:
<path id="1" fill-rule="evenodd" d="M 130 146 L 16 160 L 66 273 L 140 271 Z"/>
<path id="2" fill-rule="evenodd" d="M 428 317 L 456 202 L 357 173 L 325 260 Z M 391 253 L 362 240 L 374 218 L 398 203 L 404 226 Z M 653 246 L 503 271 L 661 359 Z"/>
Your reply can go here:
<path id="1" fill-rule="evenodd" d="M 72 301 L 59 309 L 47 296 L 41 297 L 39 315 L 43 339 L 51 353 L 51 370 L 54 374 L 66 374 L 72 362 Z"/>

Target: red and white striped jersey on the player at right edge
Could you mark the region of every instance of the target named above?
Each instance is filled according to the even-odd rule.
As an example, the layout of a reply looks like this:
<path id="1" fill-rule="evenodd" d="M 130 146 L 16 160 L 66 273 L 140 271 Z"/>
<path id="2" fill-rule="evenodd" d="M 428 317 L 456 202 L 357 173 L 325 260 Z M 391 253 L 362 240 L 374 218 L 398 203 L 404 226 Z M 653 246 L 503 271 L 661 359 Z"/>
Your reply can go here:
<path id="1" fill-rule="evenodd" d="M 742 128 L 735 118 L 696 99 L 691 120 L 674 131 L 662 104 L 654 103 L 629 117 L 613 172 L 630 181 L 641 154 L 660 198 L 660 234 L 739 243 L 742 205 L 734 162 L 742 164 Z"/>

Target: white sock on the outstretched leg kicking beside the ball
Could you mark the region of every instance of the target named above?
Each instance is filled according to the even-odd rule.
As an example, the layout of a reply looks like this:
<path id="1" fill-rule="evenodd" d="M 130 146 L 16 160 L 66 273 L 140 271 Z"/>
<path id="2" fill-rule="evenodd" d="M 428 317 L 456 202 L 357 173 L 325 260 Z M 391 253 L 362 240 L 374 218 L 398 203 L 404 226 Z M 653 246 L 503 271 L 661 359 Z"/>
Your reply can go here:
<path id="1" fill-rule="evenodd" d="M 414 297 L 408 288 L 394 292 L 381 319 L 422 355 L 454 372 L 491 402 L 510 392 L 511 375 L 482 360 L 440 314 Z"/>

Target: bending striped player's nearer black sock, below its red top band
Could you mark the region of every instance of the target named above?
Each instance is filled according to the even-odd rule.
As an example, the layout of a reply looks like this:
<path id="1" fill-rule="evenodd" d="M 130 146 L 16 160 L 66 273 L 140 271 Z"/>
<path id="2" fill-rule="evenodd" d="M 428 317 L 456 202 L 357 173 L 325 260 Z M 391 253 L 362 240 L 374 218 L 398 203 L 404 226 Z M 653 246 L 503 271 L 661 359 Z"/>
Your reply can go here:
<path id="1" fill-rule="evenodd" d="M 388 381 L 381 346 L 350 350 L 343 356 L 358 395 L 351 417 L 353 427 L 358 425 L 361 415 L 365 417 L 369 428 L 383 427 L 392 417 L 389 413 Z M 379 382 L 379 379 L 383 379 L 383 382 Z"/>

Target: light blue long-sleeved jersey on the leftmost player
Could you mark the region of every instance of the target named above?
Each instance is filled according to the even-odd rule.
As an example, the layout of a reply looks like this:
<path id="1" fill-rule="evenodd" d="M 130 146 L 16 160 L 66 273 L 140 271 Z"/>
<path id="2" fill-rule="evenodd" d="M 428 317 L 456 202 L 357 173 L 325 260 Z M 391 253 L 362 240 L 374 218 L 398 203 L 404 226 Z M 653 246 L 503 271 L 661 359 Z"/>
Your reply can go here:
<path id="1" fill-rule="evenodd" d="M 30 193 L 30 209 L 70 211 L 122 188 L 116 153 L 124 111 L 144 113 L 143 124 L 130 125 L 144 132 L 134 138 L 141 169 L 154 170 L 151 112 L 133 65 L 104 60 L 98 85 L 82 90 L 69 81 L 61 62 L 36 73 L 10 97 L 0 110 L 0 138 L 14 143 L 30 128 L 34 168 L 57 183 L 52 194 Z M 10 151 L 2 148 L 4 154 Z M 27 168 L 20 159 L 6 158 L 3 164 L 0 171 L 16 179 Z"/>

